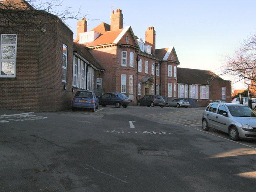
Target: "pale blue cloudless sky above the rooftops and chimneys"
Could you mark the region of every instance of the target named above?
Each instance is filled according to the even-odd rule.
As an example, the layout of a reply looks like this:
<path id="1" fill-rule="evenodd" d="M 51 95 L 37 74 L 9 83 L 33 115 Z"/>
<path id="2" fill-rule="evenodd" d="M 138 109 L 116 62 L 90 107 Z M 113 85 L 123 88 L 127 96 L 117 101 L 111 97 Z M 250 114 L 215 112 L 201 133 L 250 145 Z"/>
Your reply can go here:
<path id="1" fill-rule="evenodd" d="M 87 29 L 98 24 L 110 24 L 110 14 L 120 8 L 124 27 L 132 26 L 136 36 L 145 42 L 149 26 L 156 30 L 156 48 L 174 46 L 179 67 L 211 70 L 222 74 L 225 57 L 232 56 L 242 40 L 256 32 L 255 0 L 64 0 L 86 14 Z M 76 38 L 77 20 L 66 23 Z M 246 88 L 243 82 L 234 83 L 232 90 Z"/>

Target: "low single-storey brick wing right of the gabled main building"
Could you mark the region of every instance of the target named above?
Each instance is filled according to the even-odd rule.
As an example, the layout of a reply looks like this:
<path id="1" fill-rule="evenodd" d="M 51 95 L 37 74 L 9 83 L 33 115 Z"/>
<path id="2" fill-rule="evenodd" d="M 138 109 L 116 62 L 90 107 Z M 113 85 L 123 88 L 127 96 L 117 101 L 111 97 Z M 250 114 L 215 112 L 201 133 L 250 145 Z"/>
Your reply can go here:
<path id="1" fill-rule="evenodd" d="M 206 106 L 213 100 L 231 102 L 231 81 L 209 70 L 178 68 L 178 98 L 192 106 Z"/>

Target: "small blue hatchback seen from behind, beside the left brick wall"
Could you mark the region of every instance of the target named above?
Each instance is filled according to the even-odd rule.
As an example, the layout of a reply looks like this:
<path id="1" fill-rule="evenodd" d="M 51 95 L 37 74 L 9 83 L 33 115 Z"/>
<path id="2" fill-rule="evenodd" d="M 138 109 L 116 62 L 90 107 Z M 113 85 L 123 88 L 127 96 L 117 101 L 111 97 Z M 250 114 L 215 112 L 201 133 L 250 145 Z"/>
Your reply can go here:
<path id="1" fill-rule="evenodd" d="M 72 110 L 75 108 L 89 108 L 92 112 L 99 107 L 99 100 L 93 91 L 80 90 L 72 100 Z"/>

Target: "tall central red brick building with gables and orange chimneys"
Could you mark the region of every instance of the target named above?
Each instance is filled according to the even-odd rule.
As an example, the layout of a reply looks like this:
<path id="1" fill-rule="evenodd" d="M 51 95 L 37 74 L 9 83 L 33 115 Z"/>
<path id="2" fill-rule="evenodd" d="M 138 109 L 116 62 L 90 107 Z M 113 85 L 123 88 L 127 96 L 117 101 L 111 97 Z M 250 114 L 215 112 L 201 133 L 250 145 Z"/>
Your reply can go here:
<path id="1" fill-rule="evenodd" d="M 122 10 L 112 12 L 110 25 L 101 23 L 87 31 L 86 20 L 78 22 L 78 44 L 83 44 L 102 64 L 104 92 L 122 92 L 131 103 L 146 94 L 172 97 L 176 92 L 178 57 L 174 47 L 156 49 L 156 32 L 149 27 L 145 42 L 131 26 L 123 28 Z"/>

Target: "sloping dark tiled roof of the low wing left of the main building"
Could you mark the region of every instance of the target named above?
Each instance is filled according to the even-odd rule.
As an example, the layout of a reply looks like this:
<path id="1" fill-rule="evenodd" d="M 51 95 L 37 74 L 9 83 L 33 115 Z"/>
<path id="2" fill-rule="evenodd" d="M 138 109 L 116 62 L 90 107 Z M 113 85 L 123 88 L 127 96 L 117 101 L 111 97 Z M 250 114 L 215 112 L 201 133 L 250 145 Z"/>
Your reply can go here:
<path id="1" fill-rule="evenodd" d="M 83 44 L 74 42 L 73 52 L 77 52 L 80 56 L 88 60 L 96 68 L 104 70 L 104 67 L 98 62 L 98 60 L 96 60 L 90 50 L 86 49 L 86 46 L 84 46 Z"/>

